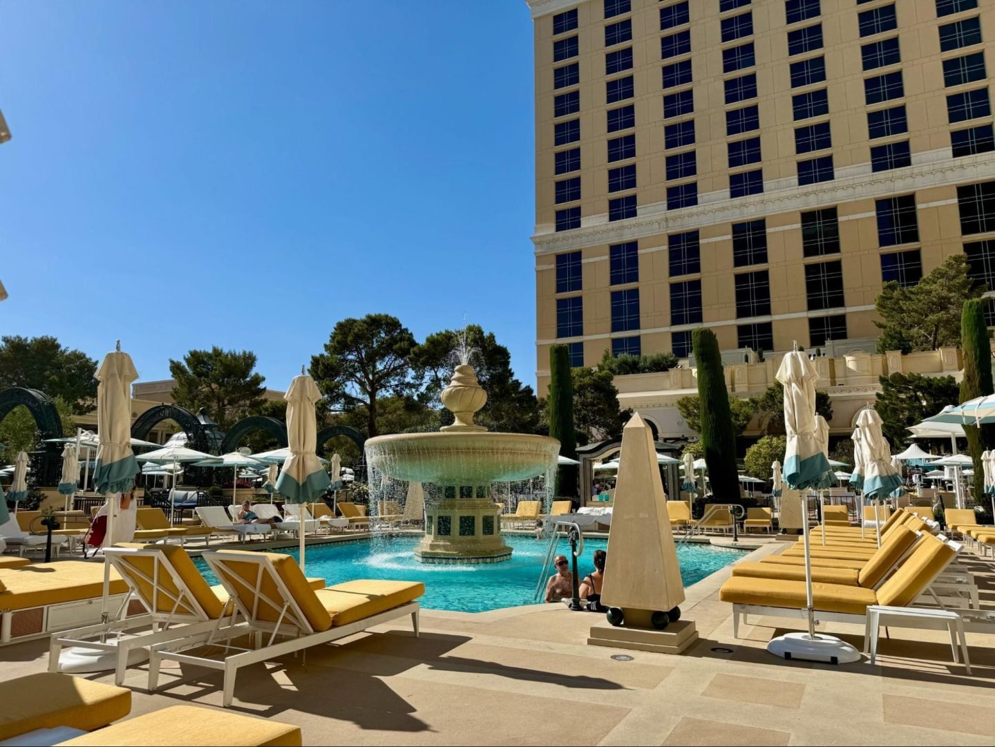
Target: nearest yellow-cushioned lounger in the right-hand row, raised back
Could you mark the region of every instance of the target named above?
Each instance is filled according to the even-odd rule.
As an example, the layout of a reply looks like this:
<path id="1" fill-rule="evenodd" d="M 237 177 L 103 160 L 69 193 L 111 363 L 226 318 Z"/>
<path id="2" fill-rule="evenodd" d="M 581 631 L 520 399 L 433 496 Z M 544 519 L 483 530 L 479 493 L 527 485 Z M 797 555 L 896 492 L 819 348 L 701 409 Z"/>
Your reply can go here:
<path id="1" fill-rule="evenodd" d="M 907 607 L 926 590 L 960 552 L 960 545 L 932 535 L 922 535 L 901 568 L 877 590 L 842 584 L 812 585 L 819 620 L 837 623 L 867 623 L 872 605 Z M 732 635 L 739 638 L 740 619 L 747 615 L 784 618 L 807 617 L 803 581 L 733 576 L 719 590 L 719 599 L 732 604 Z"/>

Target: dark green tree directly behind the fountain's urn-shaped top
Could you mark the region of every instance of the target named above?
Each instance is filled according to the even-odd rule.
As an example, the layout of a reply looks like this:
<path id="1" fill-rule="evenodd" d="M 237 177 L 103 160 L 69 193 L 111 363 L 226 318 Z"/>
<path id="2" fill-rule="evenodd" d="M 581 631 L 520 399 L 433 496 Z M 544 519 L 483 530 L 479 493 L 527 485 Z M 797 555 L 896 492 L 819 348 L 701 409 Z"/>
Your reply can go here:
<path id="1" fill-rule="evenodd" d="M 491 431 L 532 433 L 539 423 L 538 402 L 531 387 L 523 385 L 511 370 L 511 354 L 497 343 L 494 332 L 485 332 L 477 324 L 462 330 L 472 349 L 471 364 L 477 379 L 488 393 L 475 422 Z M 449 384 L 457 361 L 454 351 L 460 341 L 460 330 L 445 329 L 425 338 L 415 346 L 410 360 L 415 378 L 423 382 L 420 399 L 433 408 L 441 409 L 439 395 Z M 453 422 L 452 415 L 442 413 L 443 424 Z"/>

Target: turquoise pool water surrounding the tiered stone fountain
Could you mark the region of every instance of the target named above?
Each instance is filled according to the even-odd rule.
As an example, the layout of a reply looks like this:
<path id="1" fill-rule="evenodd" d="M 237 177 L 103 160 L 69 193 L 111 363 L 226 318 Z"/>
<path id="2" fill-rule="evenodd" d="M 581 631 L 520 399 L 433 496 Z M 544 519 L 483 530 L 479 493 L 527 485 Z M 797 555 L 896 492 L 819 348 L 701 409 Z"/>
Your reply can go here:
<path id="1" fill-rule="evenodd" d="M 361 578 L 421 581 L 425 584 L 422 607 L 431 610 L 486 612 L 533 604 L 535 584 L 539 567 L 545 559 L 548 540 L 506 536 L 505 541 L 514 549 L 511 559 L 484 565 L 419 563 L 412 556 L 419 542 L 418 537 L 329 543 L 307 548 L 305 570 L 308 576 L 323 577 L 329 586 Z M 591 562 L 594 551 L 607 547 L 607 540 L 584 541 L 584 554 L 577 560 L 581 577 L 594 570 Z M 559 551 L 568 554 L 569 544 L 565 539 L 560 541 Z M 297 548 L 276 552 L 298 557 Z M 680 546 L 678 559 L 681 561 L 684 585 L 691 586 L 741 557 L 742 553 L 742 550 L 711 545 Z M 199 558 L 195 562 L 210 583 L 218 583 L 206 562 Z"/>

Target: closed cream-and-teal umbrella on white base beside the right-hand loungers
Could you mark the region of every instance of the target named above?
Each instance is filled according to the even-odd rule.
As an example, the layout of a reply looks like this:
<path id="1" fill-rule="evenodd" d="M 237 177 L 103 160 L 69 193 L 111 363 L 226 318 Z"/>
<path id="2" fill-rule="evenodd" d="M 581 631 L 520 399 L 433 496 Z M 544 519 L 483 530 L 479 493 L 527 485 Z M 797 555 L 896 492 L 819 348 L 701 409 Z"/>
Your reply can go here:
<path id="1" fill-rule="evenodd" d="M 784 481 L 791 489 L 803 489 L 818 484 L 830 470 L 829 459 L 822 451 L 816 433 L 815 380 L 818 374 L 808 356 L 796 349 L 784 356 L 777 370 L 777 380 L 784 386 L 784 430 L 787 448 L 784 452 Z M 801 495 L 801 493 L 800 493 Z M 767 651 L 785 658 L 812 658 L 821 661 L 848 663 L 860 660 L 861 654 L 834 636 L 816 634 L 815 610 L 812 600 L 812 554 L 805 497 L 801 496 L 802 531 L 805 547 L 805 591 L 807 633 L 788 633 L 771 640 Z"/>

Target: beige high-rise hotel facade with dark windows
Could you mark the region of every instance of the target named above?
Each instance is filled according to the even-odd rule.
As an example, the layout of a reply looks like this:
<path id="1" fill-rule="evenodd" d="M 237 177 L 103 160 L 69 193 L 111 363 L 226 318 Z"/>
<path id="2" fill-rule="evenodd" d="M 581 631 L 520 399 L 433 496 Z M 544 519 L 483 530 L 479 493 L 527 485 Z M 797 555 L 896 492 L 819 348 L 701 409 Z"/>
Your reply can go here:
<path id="1" fill-rule="evenodd" d="M 989 0 L 526 0 L 536 351 L 873 351 L 883 280 L 995 288 Z"/>

